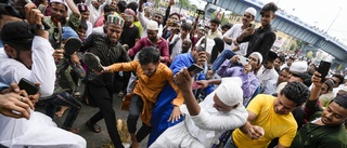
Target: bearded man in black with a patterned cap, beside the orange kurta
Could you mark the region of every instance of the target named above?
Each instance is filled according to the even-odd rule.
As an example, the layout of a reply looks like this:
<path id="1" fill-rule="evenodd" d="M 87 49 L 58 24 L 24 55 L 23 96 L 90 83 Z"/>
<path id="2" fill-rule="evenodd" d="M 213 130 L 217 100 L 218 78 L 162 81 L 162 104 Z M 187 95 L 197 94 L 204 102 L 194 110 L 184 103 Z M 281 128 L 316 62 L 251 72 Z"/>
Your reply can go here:
<path id="1" fill-rule="evenodd" d="M 129 62 L 127 51 L 118 42 L 123 32 L 124 19 L 118 15 L 107 16 L 106 33 L 91 33 L 81 46 L 81 51 L 90 50 L 100 58 L 100 63 L 110 66 L 114 63 Z M 117 75 L 102 73 L 97 76 L 91 69 L 87 71 L 86 95 L 94 102 L 100 111 L 90 118 L 86 125 L 93 132 L 100 133 L 101 127 L 97 124 L 105 119 L 107 133 L 116 148 L 123 148 L 116 127 L 116 112 L 113 109 L 113 93 L 119 92 L 121 80 Z M 118 90 L 117 90 L 118 89 Z"/>

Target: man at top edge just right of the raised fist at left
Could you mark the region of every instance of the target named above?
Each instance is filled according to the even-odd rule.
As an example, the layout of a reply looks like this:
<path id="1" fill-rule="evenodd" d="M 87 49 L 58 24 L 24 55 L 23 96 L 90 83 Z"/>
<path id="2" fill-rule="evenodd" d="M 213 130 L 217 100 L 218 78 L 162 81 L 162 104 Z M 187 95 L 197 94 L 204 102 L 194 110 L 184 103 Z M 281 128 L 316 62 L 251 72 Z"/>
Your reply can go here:
<path id="1" fill-rule="evenodd" d="M 57 23 L 62 26 L 72 27 L 77 30 L 80 23 L 80 13 L 73 0 L 51 0 L 51 16 L 44 16 L 43 21 L 51 27 L 48 31 L 50 36 L 53 35 L 54 29 L 57 28 Z M 72 15 L 67 18 L 67 10 L 72 10 Z M 53 36 L 56 38 L 57 36 Z"/>

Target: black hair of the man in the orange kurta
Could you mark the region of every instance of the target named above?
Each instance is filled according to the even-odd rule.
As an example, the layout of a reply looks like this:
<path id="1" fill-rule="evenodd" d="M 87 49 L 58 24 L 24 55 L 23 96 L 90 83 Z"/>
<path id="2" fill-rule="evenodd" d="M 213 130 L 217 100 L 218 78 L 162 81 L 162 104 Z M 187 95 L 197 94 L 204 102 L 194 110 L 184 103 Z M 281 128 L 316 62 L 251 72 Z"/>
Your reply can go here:
<path id="1" fill-rule="evenodd" d="M 141 65 L 157 64 L 159 62 L 160 52 L 155 46 L 145 46 L 139 53 L 139 62 Z"/>

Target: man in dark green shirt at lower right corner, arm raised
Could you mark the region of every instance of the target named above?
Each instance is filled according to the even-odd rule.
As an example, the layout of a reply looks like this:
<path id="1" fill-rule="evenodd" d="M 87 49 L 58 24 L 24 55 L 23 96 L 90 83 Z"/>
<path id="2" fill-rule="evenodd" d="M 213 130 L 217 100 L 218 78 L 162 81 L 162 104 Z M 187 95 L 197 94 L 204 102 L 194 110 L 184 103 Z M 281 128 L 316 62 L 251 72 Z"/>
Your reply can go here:
<path id="1" fill-rule="evenodd" d="M 344 126 L 347 120 L 346 95 L 337 95 L 323 110 L 318 103 L 323 84 L 319 72 L 314 72 L 312 82 L 312 94 L 306 103 L 309 122 L 297 132 L 291 147 L 346 148 L 347 136 Z"/>

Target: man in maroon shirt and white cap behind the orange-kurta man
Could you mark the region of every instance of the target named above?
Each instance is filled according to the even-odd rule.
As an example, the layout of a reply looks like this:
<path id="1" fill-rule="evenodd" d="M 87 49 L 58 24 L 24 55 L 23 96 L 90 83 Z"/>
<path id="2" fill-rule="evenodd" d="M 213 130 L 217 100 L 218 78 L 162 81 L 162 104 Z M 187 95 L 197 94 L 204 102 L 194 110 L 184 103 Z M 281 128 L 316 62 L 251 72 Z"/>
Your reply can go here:
<path id="1" fill-rule="evenodd" d="M 158 37 L 158 24 L 155 21 L 149 21 L 146 26 L 147 37 L 141 38 L 137 44 L 128 51 L 130 57 L 133 57 L 144 46 L 156 46 L 160 52 L 160 62 L 168 63 L 170 59 L 169 45 L 167 41 Z"/>

